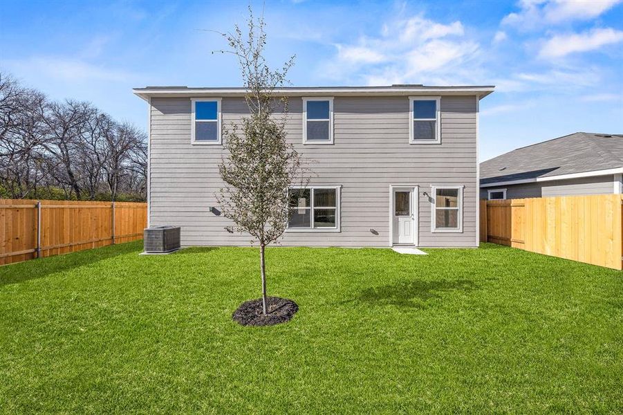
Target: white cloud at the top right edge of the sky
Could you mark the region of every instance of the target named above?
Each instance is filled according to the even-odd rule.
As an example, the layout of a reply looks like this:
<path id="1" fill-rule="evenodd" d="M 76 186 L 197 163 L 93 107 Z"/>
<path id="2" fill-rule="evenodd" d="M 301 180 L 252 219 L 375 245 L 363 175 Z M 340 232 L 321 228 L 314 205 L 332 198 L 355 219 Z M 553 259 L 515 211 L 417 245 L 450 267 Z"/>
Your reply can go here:
<path id="1" fill-rule="evenodd" d="M 531 30 L 550 24 L 590 20 L 610 10 L 622 0 L 521 0 L 519 12 L 502 19 L 502 24 Z"/>

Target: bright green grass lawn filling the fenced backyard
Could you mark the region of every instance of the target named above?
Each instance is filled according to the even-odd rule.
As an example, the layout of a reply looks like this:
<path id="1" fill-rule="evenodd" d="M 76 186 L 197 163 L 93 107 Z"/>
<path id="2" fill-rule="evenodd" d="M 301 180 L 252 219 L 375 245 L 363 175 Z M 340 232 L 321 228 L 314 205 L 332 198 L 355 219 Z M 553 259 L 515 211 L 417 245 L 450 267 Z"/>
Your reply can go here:
<path id="1" fill-rule="evenodd" d="M 270 248 L 299 312 L 243 327 L 251 248 L 0 268 L 0 412 L 623 410 L 623 273 L 478 250 Z"/>

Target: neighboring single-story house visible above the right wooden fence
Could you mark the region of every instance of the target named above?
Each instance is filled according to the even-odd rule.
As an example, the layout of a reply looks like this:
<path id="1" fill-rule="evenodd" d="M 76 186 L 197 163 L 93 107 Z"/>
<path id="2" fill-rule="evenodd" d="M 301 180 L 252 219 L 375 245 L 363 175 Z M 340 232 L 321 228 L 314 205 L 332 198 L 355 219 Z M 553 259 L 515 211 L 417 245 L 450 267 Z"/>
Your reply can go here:
<path id="1" fill-rule="evenodd" d="M 481 199 L 620 194 L 623 135 L 573 133 L 481 163 Z"/>

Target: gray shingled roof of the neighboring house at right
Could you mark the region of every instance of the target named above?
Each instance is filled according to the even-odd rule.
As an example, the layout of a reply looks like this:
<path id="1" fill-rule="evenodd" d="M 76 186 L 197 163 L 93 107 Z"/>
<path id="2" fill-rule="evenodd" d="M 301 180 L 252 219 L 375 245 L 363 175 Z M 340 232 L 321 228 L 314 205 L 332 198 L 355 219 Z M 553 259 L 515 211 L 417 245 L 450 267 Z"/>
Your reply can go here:
<path id="1" fill-rule="evenodd" d="M 480 165 L 482 187 L 623 172 L 623 134 L 573 133 Z"/>

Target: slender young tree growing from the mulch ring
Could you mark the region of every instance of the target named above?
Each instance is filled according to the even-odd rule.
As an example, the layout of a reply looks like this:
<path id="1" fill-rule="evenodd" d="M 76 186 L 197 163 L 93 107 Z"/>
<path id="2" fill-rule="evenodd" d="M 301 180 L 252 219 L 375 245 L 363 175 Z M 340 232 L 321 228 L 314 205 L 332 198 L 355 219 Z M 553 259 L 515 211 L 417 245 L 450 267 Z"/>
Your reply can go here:
<path id="1" fill-rule="evenodd" d="M 223 214 L 235 223 L 235 230 L 247 232 L 259 245 L 262 311 L 268 314 L 266 296 L 265 248 L 277 241 L 286 230 L 290 209 L 288 187 L 303 181 L 299 154 L 286 141 L 288 102 L 275 95 L 286 84 L 286 74 L 294 63 L 290 57 L 281 69 L 272 70 L 263 56 L 266 24 L 263 17 L 254 19 L 251 8 L 248 34 L 239 26 L 234 33 L 221 33 L 239 60 L 249 116 L 241 126 L 224 128 L 223 158 L 219 171 L 227 184 L 217 194 Z M 279 116 L 280 114 L 280 116 Z"/>

